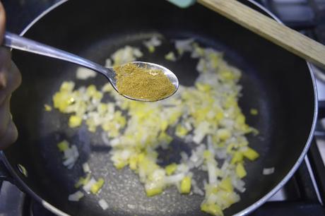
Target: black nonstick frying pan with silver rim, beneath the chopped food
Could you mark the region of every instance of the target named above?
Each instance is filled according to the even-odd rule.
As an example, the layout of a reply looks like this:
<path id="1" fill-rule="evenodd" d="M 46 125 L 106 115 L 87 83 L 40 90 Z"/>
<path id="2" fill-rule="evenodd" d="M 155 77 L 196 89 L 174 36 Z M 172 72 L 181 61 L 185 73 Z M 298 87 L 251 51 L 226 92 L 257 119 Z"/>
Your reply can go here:
<path id="1" fill-rule="evenodd" d="M 272 16 L 254 1 L 242 3 Z M 204 47 L 223 51 L 225 59 L 243 72 L 240 107 L 247 123 L 260 131 L 259 136 L 248 136 L 260 157 L 247 163 L 247 190 L 225 215 L 245 215 L 258 208 L 288 181 L 309 148 L 317 117 L 316 88 L 309 64 L 198 4 L 180 9 L 167 1 L 61 1 L 22 35 L 99 64 L 105 64 L 112 52 L 126 44 L 141 47 L 143 40 L 158 35 L 163 45 L 154 54 L 143 49 L 139 60 L 167 66 L 182 85 L 193 85 L 198 76 L 196 61 L 187 55 L 177 63 L 166 61 L 163 56 L 172 49 L 171 40 L 194 37 Z M 75 80 L 75 65 L 19 51 L 13 51 L 13 61 L 23 76 L 12 101 L 19 138 L 1 152 L 1 159 L 23 191 L 58 215 L 205 215 L 200 210 L 203 197 L 182 196 L 176 188 L 147 198 L 136 174 L 126 168 L 114 169 L 110 148 L 103 145 L 100 131 L 93 134 L 85 126 L 69 128 L 69 116 L 44 111 L 43 105 L 51 103 L 61 82 Z M 103 85 L 105 78 L 77 81 L 77 85 L 91 83 Z M 259 115 L 249 115 L 251 108 L 258 109 Z M 56 146 L 64 138 L 75 143 L 81 155 L 71 170 L 61 164 Z M 179 160 L 177 152 L 191 150 L 191 145 L 179 141 L 172 145 L 175 161 Z M 90 164 L 94 176 L 105 177 L 106 184 L 98 197 L 86 196 L 71 203 L 67 198 L 83 174 L 83 162 Z M 28 170 L 27 177 L 17 164 Z M 275 172 L 265 176 L 264 167 L 275 167 Z M 204 174 L 198 176 L 206 178 Z M 108 210 L 100 208 L 99 198 L 107 200 Z"/>

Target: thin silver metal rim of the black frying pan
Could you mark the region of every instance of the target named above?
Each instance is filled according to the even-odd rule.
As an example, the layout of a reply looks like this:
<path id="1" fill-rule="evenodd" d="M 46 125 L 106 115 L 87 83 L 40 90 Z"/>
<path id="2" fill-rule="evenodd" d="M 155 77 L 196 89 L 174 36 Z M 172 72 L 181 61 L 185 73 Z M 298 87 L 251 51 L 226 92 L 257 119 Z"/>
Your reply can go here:
<path id="1" fill-rule="evenodd" d="M 47 10 L 43 11 L 39 16 L 37 16 L 34 20 L 32 20 L 32 22 L 30 24 L 28 24 L 23 29 L 23 31 L 20 32 L 19 35 L 20 36 L 25 35 L 25 33 L 28 32 L 28 30 L 30 30 L 30 28 L 32 28 L 32 26 L 35 25 L 35 23 L 37 23 L 41 18 L 43 18 L 45 15 L 47 15 L 47 13 L 53 11 L 55 8 L 57 8 L 58 6 L 61 6 L 62 4 L 66 3 L 67 1 L 69 1 L 69 0 L 61 0 L 61 1 L 57 2 L 56 4 L 54 4 L 54 5 L 50 6 L 49 8 L 47 8 Z M 278 23 L 282 23 L 281 20 L 276 15 L 271 13 L 271 11 L 268 11 L 268 9 L 265 8 L 264 6 L 262 6 L 261 4 L 257 3 L 254 0 L 247 0 L 247 1 L 249 2 L 249 4 L 252 4 L 252 5 L 260 8 L 262 11 L 264 11 L 264 13 L 266 13 L 268 16 L 271 16 L 271 18 L 276 20 Z M 318 114 L 318 96 L 317 96 L 316 80 L 315 80 L 315 77 L 314 77 L 314 68 L 313 68 L 312 64 L 310 64 L 308 61 L 306 61 L 306 63 L 307 63 L 308 69 L 309 69 L 310 78 L 312 79 L 312 85 L 313 85 L 313 90 L 314 90 L 314 116 L 313 116 L 313 120 L 312 120 L 312 126 L 310 128 L 309 136 L 308 136 L 306 144 L 305 144 L 305 148 L 302 150 L 302 152 L 300 154 L 300 157 L 295 162 L 295 164 L 293 164 L 293 167 L 285 175 L 285 177 L 271 191 L 266 193 L 259 200 L 256 200 L 256 202 L 254 204 L 249 205 L 249 207 L 245 208 L 244 210 L 242 210 L 240 212 L 237 212 L 237 214 L 235 214 L 237 216 L 248 215 L 249 213 L 251 213 L 254 210 L 256 210 L 257 208 L 259 208 L 261 205 L 266 203 L 266 201 L 269 198 L 271 198 L 271 196 L 273 196 L 277 191 L 280 190 L 280 188 L 282 188 L 287 183 L 287 181 L 290 179 L 290 177 L 293 176 L 293 174 L 296 172 L 298 167 L 300 167 L 300 164 L 302 163 L 302 161 L 305 160 L 305 156 L 307 154 L 307 151 L 309 150 L 309 147 L 310 147 L 310 145 L 312 143 L 312 139 L 313 139 L 313 136 L 314 136 L 314 130 L 315 130 L 315 127 L 316 127 L 317 114 Z M 59 216 L 68 215 L 68 214 L 66 214 L 66 212 L 63 212 L 63 211 L 59 210 L 59 208 L 55 207 L 54 205 L 52 205 L 50 203 L 47 203 L 46 200 L 44 200 L 43 198 L 38 196 L 34 191 L 32 191 L 32 189 L 27 184 L 25 184 L 25 182 L 23 182 L 22 179 L 20 179 L 18 174 L 16 174 L 15 170 L 13 169 L 11 164 L 8 162 L 8 160 L 6 158 L 6 155 L 4 154 L 3 151 L 0 151 L 0 157 L 1 157 L 0 160 L 2 160 L 4 162 L 6 168 L 10 172 L 11 176 L 13 176 L 16 179 L 16 181 L 17 181 L 16 183 L 18 183 L 20 186 L 22 186 L 24 191 L 27 192 L 30 196 L 32 196 L 32 198 L 37 200 L 47 210 L 49 210 L 50 212 L 53 212 L 56 215 L 59 215 Z"/>

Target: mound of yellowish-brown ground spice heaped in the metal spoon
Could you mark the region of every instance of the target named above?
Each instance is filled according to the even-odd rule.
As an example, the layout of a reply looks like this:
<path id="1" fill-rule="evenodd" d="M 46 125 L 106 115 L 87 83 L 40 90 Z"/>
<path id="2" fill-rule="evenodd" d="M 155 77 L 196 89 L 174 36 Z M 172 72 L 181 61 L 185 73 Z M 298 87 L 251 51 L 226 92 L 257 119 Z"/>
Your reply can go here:
<path id="1" fill-rule="evenodd" d="M 142 68 L 136 64 L 115 66 L 117 90 L 136 99 L 157 101 L 175 91 L 175 86 L 158 69 Z"/>

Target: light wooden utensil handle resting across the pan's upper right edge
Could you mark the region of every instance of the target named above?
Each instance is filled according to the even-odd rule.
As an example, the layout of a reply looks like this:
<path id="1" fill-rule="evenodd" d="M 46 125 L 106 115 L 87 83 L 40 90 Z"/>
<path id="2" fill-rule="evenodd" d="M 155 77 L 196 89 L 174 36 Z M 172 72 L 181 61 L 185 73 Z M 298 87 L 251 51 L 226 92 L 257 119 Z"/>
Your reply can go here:
<path id="1" fill-rule="evenodd" d="M 325 46 L 296 32 L 276 20 L 268 18 L 236 0 L 198 0 L 244 28 L 255 32 L 266 40 L 293 52 L 307 61 L 325 68 Z"/>

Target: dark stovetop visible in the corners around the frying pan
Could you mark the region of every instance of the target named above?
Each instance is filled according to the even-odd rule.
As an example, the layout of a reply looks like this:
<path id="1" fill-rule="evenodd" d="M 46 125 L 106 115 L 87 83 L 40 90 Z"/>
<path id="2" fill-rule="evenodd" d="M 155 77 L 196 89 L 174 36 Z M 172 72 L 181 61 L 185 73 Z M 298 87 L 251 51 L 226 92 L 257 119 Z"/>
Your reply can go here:
<path id="1" fill-rule="evenodd" d="M 20 32 L 59 0 L 2 0 L 7 29 Z M 325 0 L 257 0 L 286 25 L 325 44 Z M 314 68 L 319 122 L 305 161 L 285 186 L 252 215 L 325 215 L 325 73 Z M 0 181 L 0 216 L 53 216 L 7 181 Z"/>

